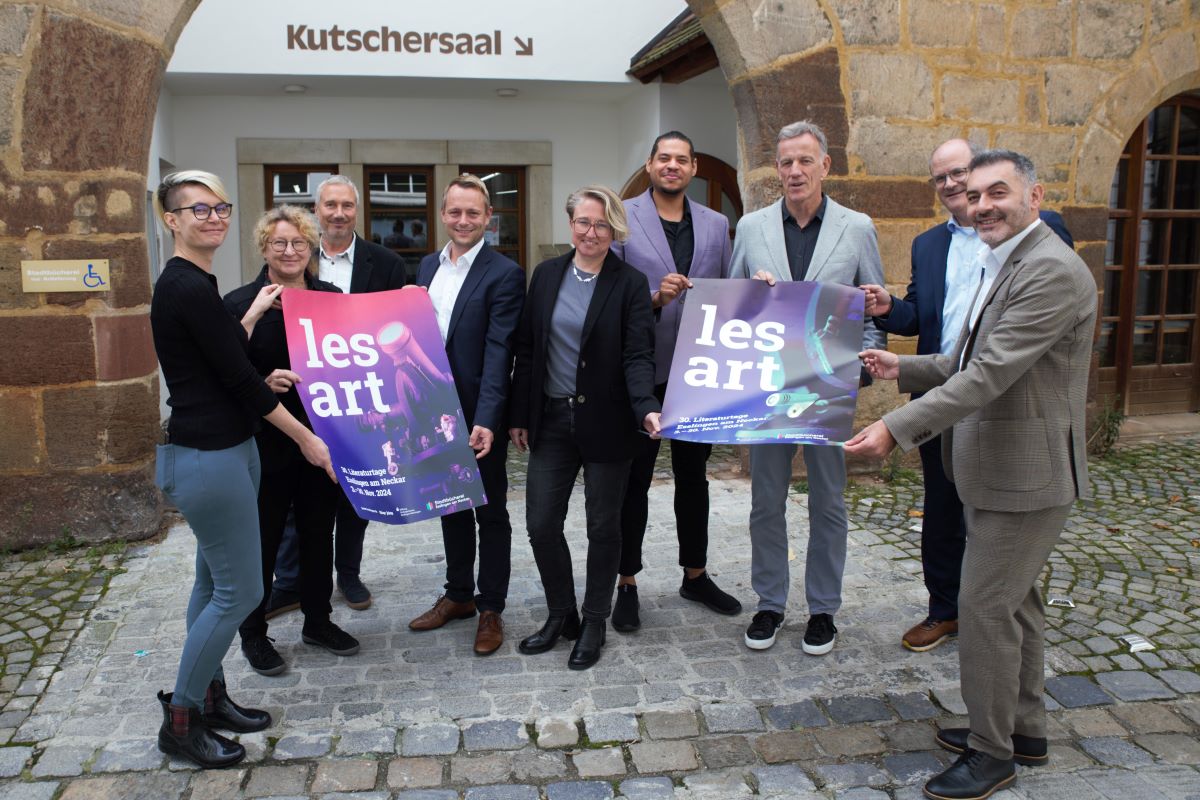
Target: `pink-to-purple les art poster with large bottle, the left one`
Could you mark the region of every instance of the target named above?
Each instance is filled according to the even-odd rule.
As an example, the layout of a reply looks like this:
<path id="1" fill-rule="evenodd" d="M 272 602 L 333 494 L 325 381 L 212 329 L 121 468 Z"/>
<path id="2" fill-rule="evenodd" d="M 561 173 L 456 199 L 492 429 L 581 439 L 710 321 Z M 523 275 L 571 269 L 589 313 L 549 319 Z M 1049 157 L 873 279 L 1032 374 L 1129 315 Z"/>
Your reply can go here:
<path id="1" fill-rule="evenodd" d="M 364 519 L 392 524 L 487 503 L 430 295 L 283 290 L 296 387 Z"/>

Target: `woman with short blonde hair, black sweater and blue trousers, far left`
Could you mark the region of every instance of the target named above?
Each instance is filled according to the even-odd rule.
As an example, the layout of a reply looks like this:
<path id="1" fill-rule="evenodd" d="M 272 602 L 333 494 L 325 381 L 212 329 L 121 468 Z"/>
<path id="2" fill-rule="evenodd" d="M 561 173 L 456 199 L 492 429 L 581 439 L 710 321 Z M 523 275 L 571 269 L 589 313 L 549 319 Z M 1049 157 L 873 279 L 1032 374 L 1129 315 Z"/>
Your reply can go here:
<path id="1" fill-rule="evenodd" d="M 229 766 L 246 750 L 214 728 L 248 733 L 271 723 L 266 711 L 229 699 L 221 668 L 238 625 L 263 597 L 253 438 L 260 420 L 293 439 L 329 480 L 334 470 L 325 443 L 259 377 L 246 355 L 246 331 L 221 302 L 212 259 L 233 213 L 221 179 L 200 170 L 172 173 L 154 199 L 175 243 L 150 303 L 172 409 L 156 482 L 196 536 L 196 581 L 179 675 L 173 692 L 158 692 L 158 748 L 203 768 Z"/>

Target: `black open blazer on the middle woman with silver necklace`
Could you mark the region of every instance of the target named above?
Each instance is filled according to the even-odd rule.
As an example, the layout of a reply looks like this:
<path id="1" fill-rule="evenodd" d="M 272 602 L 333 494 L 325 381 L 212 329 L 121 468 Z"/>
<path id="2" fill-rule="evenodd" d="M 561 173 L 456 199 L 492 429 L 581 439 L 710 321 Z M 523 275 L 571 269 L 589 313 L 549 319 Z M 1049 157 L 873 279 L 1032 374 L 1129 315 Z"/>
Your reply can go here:
<path id="1" fill-rule="evenodd" d="M 575 251 L 534 270 L 515 339 L 510 427 L 538 429 L 546 405 L 550 320 Z M 642 421 L 661 407 L 654 397 L 654 314 L 646 276 L 611 251 L 583 320 L 575 372 L 575 444 L 583 461 L 614 462 L 637 452 Z"/>

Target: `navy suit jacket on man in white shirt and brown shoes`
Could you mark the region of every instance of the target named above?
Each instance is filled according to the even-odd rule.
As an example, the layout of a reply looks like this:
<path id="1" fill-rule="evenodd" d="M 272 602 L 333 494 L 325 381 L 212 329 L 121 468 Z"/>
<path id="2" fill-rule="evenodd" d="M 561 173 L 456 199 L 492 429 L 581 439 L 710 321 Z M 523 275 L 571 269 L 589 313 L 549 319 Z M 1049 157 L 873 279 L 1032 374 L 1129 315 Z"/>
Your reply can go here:
<path id="1" fill-rule="evenodd" d="M 430 288 L 440 251 L 421 259 L 416 283 Z M 446 357 L 467 425 L 508 437 L 512 335 L 524 306 L 524 270 L 486 242 L 475 255 L 450 314 Z"/>

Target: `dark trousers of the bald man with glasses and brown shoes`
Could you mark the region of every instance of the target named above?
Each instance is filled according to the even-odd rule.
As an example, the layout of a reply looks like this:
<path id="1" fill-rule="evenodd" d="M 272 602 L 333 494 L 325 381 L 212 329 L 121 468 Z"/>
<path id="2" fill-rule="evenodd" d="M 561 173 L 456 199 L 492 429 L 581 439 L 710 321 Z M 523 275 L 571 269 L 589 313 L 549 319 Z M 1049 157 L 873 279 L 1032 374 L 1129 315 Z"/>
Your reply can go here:
<path id="1" fill-rule="evenodd" d="M 920 469 L 925 476 L 925 513 L 920 522 L 920 565 L 929 590 L 932 619 L 959 618 L 959 583 L 967 525 L 962 501 L 942 467 L 942 438 L 920 445 Z"/>

